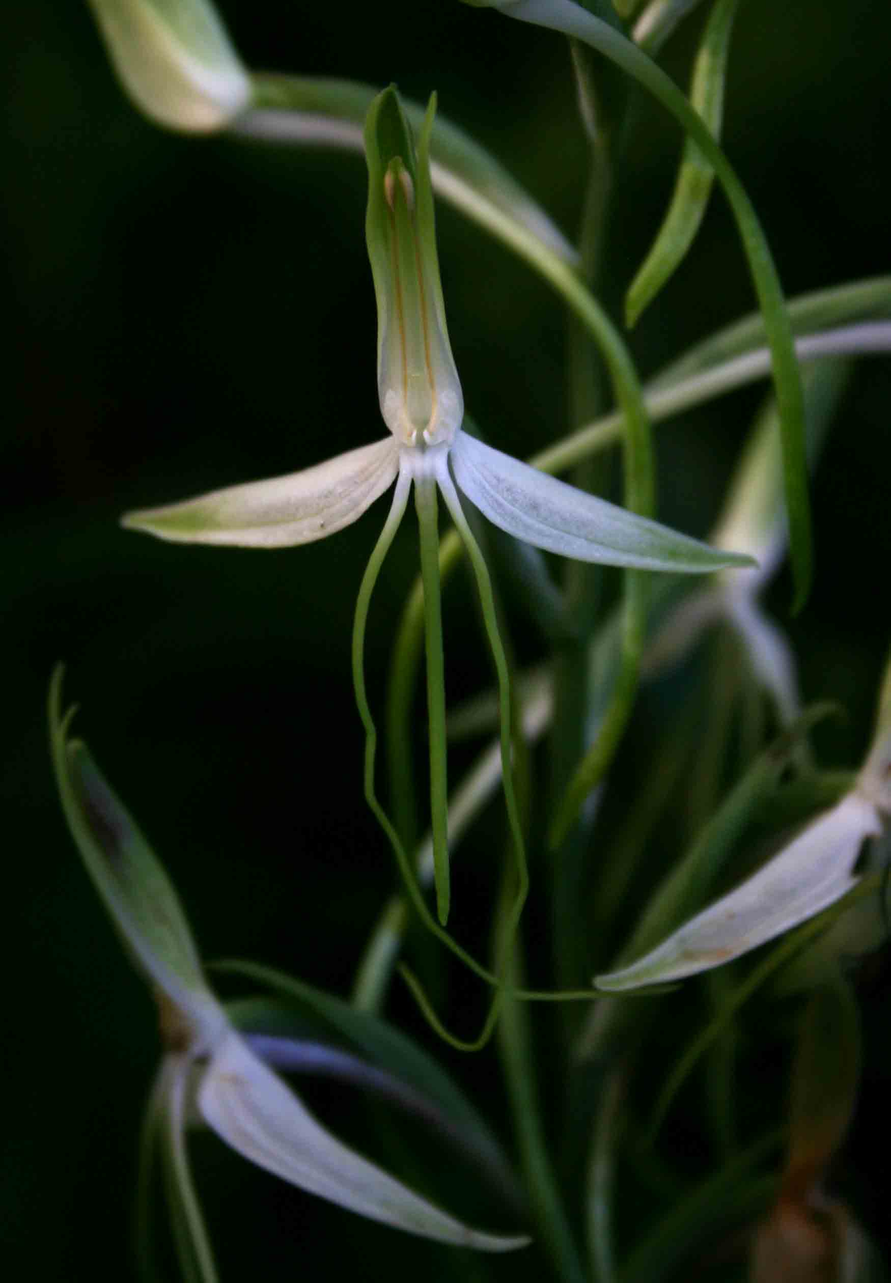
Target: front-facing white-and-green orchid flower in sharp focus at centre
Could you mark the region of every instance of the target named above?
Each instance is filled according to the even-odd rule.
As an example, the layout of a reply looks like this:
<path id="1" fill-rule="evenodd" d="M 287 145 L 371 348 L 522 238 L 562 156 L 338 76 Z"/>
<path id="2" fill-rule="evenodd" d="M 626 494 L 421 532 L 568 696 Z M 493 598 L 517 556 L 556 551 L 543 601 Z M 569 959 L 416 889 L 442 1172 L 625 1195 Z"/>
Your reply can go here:
<path id="1" fill-rule="evenodd" d="M 291 547 L 324 539 L 357 521 L 395 481 L 390 513 L 372 552 L 356 615 L 357 695 L 366 726 L 371 726 L 361 676 L 365 618 L 380 563 L 415 484 L 428 618 L 437 892 L 439 917 L 444 922 L 448 856 L 437 491 L 442 493 L 467 547 L 484 609 L 487 595 L 490 597 L 485 563 L 467 526 L 458 491 L 507 534 L 580 561 L 705 574 L 750 565 L 751 559 L 718 552 L 584 494 L 484 445 L 462 429 L 463 395 L 446 326 L 437 259 L 429 158 L 434 112 L 435 95 L 430 99 L 417 153 L 394 89 L 384 90 L 374 100 L 366 119 L 366 236 L 377 299 L 377 393 L 389 435 L 302 472 L 132 512 L 123 523 L 175 543 Z M 490 618 L 493 636 L 494 612 Z M 496 645 L 493 640 L 493 648 Z"/>

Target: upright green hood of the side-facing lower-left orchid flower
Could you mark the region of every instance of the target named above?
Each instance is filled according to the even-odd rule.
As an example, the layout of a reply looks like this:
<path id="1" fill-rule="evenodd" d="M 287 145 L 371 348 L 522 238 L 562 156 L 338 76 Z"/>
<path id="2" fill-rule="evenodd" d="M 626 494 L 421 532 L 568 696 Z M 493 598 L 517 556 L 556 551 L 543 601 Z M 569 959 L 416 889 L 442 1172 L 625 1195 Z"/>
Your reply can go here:
<path id="1" fill-rule="evenodd" d="M 216 1006 L 176 892 L 86 745 L 68 739 L 62 668 L 50 685 L 53 762 L 68 828 L 105 908 L 149 979 L 185 1010 Z"/>

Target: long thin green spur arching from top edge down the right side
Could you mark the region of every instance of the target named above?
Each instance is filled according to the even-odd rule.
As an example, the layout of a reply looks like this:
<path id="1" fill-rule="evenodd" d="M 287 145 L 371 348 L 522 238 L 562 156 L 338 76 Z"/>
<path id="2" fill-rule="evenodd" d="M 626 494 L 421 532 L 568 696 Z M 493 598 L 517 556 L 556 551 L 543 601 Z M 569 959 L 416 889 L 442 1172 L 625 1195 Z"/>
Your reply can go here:
<path id="1" fill-rule="evenodd" d="M 494 0 L 494 6 L 521 22 L 560 31 L 565 36 L 584 41 L 639 81 L 680 122 L 724 187 L 746 251 L 773 357 L 773 377 L 782 423 L 786 509 L 796 586 L 795 608 L 800 608 L 810 590 L 813 566 L 799 366 L 770 250 L 736 171 L 674 81 L 607 23 L 592 17 L 573 4 L 573 0 Z"/>

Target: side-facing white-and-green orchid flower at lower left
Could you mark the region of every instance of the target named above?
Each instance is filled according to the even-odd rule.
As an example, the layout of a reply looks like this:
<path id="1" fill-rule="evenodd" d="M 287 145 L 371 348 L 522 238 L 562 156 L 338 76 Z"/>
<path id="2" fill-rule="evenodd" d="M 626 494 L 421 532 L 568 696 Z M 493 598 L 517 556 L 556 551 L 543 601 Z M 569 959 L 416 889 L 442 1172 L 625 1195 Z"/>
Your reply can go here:
<path id="1" fill-rule="evenodd" d="M 176 892 L 135 822 L 62 716 L 62 670 L 50 734 L 62 803 L 87 872 L 150 984 L 166 1044 L 149 1110 L 149 1142 L 167 1155 L 173 1210 L 204 1283 L 216 1278 L 193 1191 L 185 1125 L 195 1112 L 259 1168 L 309 1193 L 438 1242 L 508 1251 L 529 1239 L 469 1228 L 333 1137 L 249 1047 L 209 989 Z"/>

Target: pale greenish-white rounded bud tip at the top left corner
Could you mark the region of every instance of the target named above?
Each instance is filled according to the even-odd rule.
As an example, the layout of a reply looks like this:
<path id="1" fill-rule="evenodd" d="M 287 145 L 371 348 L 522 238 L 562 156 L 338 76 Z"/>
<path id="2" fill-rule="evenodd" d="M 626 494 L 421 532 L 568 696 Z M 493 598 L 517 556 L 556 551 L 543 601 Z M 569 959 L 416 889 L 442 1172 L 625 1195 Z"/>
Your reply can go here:
<path id="1" fill-rule="evenodd" d="M 173 130 L 221 130 L 250 81 L 205 0 L 90 0 L 114 69 L 135 104 Z"/>

